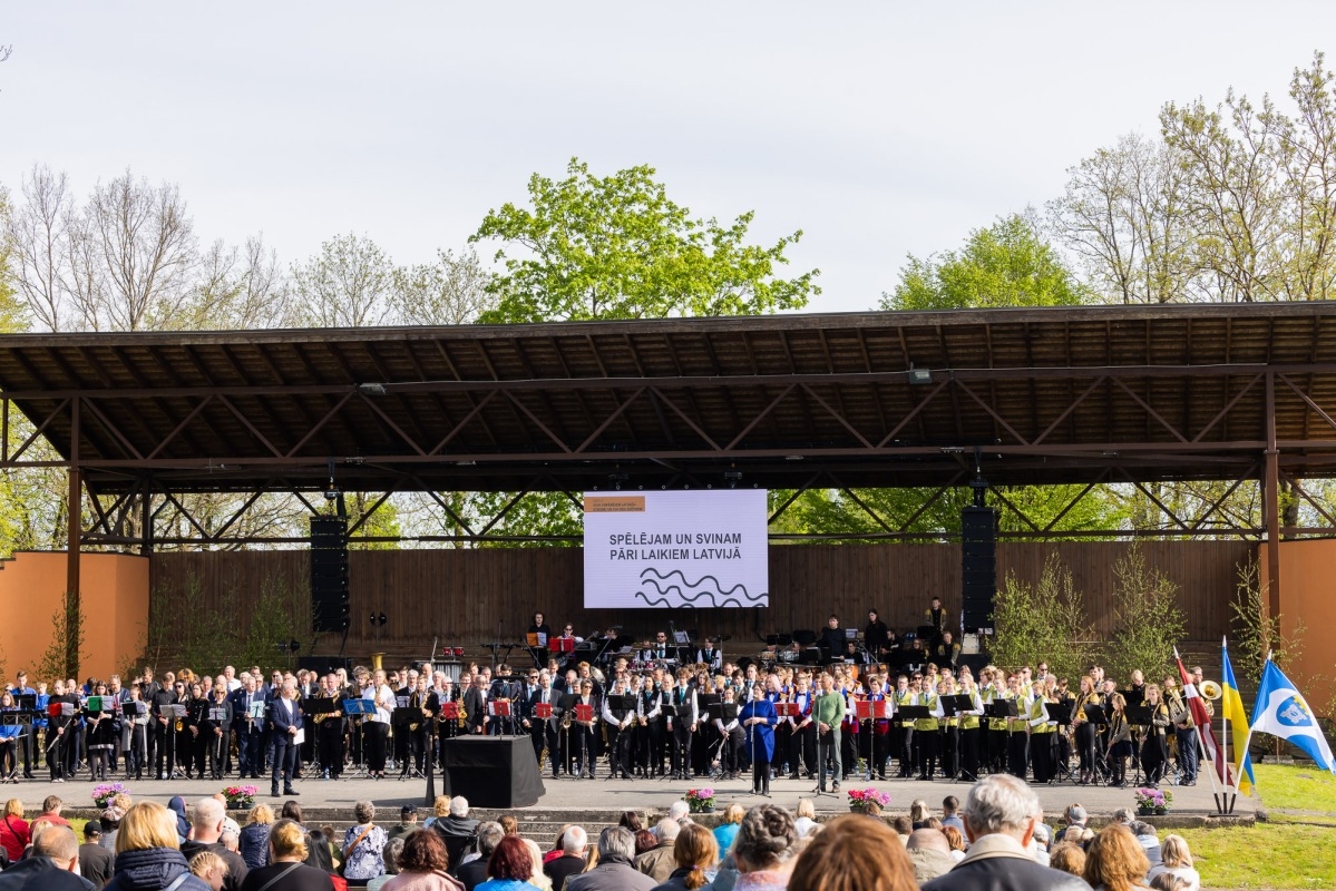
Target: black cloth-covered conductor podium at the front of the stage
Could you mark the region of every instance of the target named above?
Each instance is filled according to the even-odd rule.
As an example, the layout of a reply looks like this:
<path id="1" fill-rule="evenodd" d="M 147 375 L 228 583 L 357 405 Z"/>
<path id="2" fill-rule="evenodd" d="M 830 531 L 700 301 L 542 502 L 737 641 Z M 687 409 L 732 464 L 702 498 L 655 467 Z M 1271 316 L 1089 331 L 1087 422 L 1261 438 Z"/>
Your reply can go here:
<path id="1" fill-rule="evenodd" d="M 528 736 L 454 736 L 441 748 L 446 793 L 470 807 L 529 807 L 546 792 Z"/>

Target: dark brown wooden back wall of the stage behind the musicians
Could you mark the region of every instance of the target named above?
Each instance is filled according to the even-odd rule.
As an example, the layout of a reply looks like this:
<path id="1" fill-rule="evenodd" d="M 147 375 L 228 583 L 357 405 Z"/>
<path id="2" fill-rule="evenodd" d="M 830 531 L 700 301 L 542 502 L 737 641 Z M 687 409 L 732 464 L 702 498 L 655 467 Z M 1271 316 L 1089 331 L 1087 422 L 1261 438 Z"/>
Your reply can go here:
<path id="1" fill-rule="evenodd" d="M 1130 548 L 1124 542 L 999 544 L 998 584 L 1007 572 L 1034 581 L 1057 550 L 1083 592 L 1100 633 L 1110 624 L 1113 564 Z M 1190 640 L 1214 640 L 1228 631 L 1236 566 L 1255 554 L 1244 541 L 1152 541 L 1141 548 L 1149 565 L 1178 585 Z M 180 552 L 152 557 L 152 596 L 172 596 L 195 577 L 208 608 L 227 609 L 244 629 L 247 604 L 263 582 L 282 580 L 310 627 L 310 557 L 305 550 Z M 961 548 L 953 544 L 776 545 L 770 549 L 770 608 L 701 610 L 584 609 L 582 552 L 578 548 L 477 550 L 358 550 L 350 554 L 351 628 L 346 653 L 363 659 L 374 649 L 425 657 L 433 637 L 468 648 L 492 640 L 521 640 L 529 617 L 542 610 L 549 624 L 573 621 L 576 633 L 623 625 L 644 636 L 667 628 L 731 635 L 725 651 L 745 655 L 760 648 L 756 633 L 820 628 L 830 613 L 847 627 L 862 627 L 875 606 L 891 628 L 919 624 L 933 594 L 959 608 Z M 389 618 L 377 647 L 367 621 Z M 314 649 L 339 649 L 337 635 L 323 635 Z"/>

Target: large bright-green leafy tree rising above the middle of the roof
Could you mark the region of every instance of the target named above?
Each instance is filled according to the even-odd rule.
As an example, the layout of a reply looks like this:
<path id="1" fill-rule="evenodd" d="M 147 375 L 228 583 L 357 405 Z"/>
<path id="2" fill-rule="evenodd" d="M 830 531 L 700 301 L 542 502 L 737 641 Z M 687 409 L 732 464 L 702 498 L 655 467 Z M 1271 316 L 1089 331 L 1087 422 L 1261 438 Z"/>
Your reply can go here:
<path id="1" fill-rule="evenodd" d="M 776 278 L 802 230 L 771 247 L 745 243 L 752 214 L 731 226 L 692 219 L 668 199 L 652 167 L 611 176 L 572 158 L 566 178 L 529 179 L 532 210 L 506 203 L 470 242 L 504 242 L 488 283 L 498 298 L 482 322 L 751 315 L 802 309 L 819 270 Z M 508 252 L 513 251 L 513 252 Z"/>

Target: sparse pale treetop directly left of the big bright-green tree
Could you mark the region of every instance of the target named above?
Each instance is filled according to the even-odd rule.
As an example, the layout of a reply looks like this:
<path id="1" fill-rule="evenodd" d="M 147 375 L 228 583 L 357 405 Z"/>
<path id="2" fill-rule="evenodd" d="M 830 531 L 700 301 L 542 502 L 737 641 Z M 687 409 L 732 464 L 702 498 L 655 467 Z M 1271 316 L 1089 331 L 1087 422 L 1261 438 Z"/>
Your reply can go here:
<path id="1" fill-rule="evenodd" d="M 460 252 L 438 250 L 436 263 L 394 270 L 390 305 L 402 325 L 468 325 L 496 307 L 488 293 L 488 271 L 469 247 Z"/>

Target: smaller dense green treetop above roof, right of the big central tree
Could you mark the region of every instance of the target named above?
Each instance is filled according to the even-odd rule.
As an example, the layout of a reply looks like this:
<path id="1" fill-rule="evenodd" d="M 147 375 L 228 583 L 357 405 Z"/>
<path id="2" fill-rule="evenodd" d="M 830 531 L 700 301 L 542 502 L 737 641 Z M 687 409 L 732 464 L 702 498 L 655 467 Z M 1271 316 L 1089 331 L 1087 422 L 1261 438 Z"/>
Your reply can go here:
<path id="1" fill-rule="evenodd" d="M 1088 291 L 1027 216 L 999 218 L 970 232 L 959 251 L 919 259 L 910 254 L 883 310 L 959 310 L 998 306 L 1069 306 Z"/>

